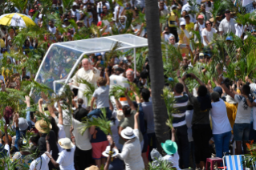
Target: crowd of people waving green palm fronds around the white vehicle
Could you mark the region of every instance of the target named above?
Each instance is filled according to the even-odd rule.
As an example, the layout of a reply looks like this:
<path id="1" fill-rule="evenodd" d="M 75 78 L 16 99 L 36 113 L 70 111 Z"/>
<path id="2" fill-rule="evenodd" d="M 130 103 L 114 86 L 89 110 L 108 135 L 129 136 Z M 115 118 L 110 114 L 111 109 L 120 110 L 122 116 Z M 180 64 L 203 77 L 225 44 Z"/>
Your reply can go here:
<path id="1" fill-rule="evenodd" d="M 46 2 L 51 7 L 46 9 Z M 250 65 L 255 59 L 251 42 L 256 41 L 252 20 L 243 22 L 241 14 L 253 17 L 256 2 L 245 8 L 224 2 L 158 2 L 159 34 L 171 49 L 166 51 L 164 65 L 172 65 L 169 71 L 164 67 L 165 75 L 160 76 L 165 77 L 165 87 L 174 98 L 172 126 L 160 134 L 171 139 L 161 144 L 156 139 L 148 58 L 134 71 L 132 55 L 115 53 L 109 59 L 106 53 L 88 55 L 68 84 L 71 96 L 45 94 L 47 87 L 40 83 L 51 90 L 54 79 L 47 74 L 39 75 L 39 85 L 35 83 L 43 57 L 47 58 L 43 71 L 55 72 L 56 79 L 67 79 L 71 70 L 62 63 L 72 65 L 78 59 L 75 52 L 68 54 L 65 49 L 44 56 L 51 43 L 126 33 L 147 38 L 145 1 L 121 5 L 75 0 L 67 6 L 66 1 L 37 0 L 22 10 L 17 2 L 6 2 L 4 13 L 28 15 L 42 34 L 36 28 L 24 33 L 22 28 L 2 26 L 0 31 L 0 96 L 16 101 L 0 99 L 2 168 L 143 170 L 163 169 L 166 163 L 169 169 L 199 170 L 205 169 L 206 158 L 211 156 L 247 154 L 249 141 L 256 141 L 256 64 Z M 214 3 L 225 6 L 217 15 Z M 61 63 L 53 61 L 56 54 Z M 170 54 L 177 55 L 175 61 Z M 85 95 L 88 84 L 81 79 L 95 87 L 91 96 Z M 37 86 L 34 93 L 43 91 L 37 103 L 29 96 L 28 82 Z M 114 85 L 122 88 L 111 96 Z M 104 123 L 110 124 L 109 131 Z M 163 122 L 162 126 L 167 125 Z"/>

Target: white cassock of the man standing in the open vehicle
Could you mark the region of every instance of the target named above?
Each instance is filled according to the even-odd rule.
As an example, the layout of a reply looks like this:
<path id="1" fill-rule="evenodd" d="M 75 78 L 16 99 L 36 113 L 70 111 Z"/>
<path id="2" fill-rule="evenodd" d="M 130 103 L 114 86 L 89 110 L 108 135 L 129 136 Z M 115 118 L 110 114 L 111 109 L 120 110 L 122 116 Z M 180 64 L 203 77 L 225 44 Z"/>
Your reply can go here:
<path id="1" fill-rule="evenodd" d="M 84 68 L 82 67 L 79 69 L 79 71 L 75 73 L 74 77 L 72 78 L 73 80 L 72 84 L 79 87 L 77 98 L 83 99 L 85 106 L 88 106 L 88 103 L 87 103 L 87 98 L 83 96 L 83 91 L 87 90 L 87 85 L 83 83 L 77 83 L 76 80 L 85 79 L 88 83 L 94 84 L 96 86 L 97 80 L 99 78 L 100 78 L 100 71 L 97 70 L 95 67 L 94 67 L 94 70 L 88 70 L 88 71 L 85 71 Z"/>

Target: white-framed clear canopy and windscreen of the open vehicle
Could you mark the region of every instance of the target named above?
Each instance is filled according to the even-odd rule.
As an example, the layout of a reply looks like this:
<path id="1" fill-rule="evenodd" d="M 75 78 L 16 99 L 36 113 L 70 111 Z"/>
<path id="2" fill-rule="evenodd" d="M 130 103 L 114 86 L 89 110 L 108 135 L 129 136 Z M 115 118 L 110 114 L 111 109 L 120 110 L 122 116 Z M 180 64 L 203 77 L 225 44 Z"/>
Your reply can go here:
<path id="1" fill-rule="evenodd" d="M 71 79 L 80 60 L 83 59 L 83 55 L 111 51 L 116 42 L 120 42 L 121 45 L 117 50 L 133 49 L 134 54 L 136 54 L 137 47 L 148 46 L 148 39 L 133 34 L 53 43 L 43 58 L 35 80 L 51 87 L 55 93 L 58 93 L 63 83 L 67 83 Z M 134 70 L 136 71 L 135 57 Z"/>

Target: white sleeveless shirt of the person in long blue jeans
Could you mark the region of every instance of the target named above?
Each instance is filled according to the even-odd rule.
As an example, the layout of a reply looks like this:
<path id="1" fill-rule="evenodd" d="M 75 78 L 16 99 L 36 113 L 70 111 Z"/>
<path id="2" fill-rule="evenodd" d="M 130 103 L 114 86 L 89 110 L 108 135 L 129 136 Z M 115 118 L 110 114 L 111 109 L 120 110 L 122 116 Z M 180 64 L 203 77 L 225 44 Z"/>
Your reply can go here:
<path id="1" fill-rule="evenodd" d="M 213 123 L 213 134 L 231 132 L 230 120 L 226 112 L 226 104 L 222 99 L 212 103 L 210 115 Z"/>

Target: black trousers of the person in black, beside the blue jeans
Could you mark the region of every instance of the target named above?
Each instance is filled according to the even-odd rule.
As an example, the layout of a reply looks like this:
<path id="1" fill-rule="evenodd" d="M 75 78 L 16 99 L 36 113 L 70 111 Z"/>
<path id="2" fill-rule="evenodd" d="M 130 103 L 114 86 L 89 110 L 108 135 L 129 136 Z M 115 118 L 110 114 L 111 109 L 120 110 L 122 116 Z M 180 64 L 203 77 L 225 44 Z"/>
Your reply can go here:
<path id="1" fill-rule="evenodd" d="M 211 127 L 209 124 L 193 124 L 192 134 L 196 164 L 199 164 L 200 161 L 206 162 L 206 158 L 210 157 L 209 140 L 212 137 Z"/>

